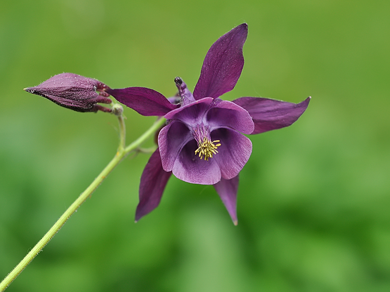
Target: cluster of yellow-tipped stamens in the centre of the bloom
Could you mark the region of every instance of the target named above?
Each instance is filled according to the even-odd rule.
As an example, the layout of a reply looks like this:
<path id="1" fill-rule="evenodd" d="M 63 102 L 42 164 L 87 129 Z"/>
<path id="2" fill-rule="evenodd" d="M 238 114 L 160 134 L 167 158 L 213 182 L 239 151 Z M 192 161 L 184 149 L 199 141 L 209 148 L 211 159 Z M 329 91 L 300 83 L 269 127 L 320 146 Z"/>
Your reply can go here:
<path id="1" fill-rule="evenodd" d="M 195 132 L 195 141 L 198 146 L 198 148 L 195 150 L 195 155 L 199 153 L 198 155 L 200 159 L 202 159 L 204 156 L 204 160 L 208 160 L 208 158 L 212 158 L 213 154 L 218 153 L 216 149 L 221 146 L 221 144 L 214 144 L 219 142 L 219 140 L 211 141 L 210 132 L 208 131 L 207 126 L 197 125 L 196 128 L 193 128 L 193 130 Z"/>

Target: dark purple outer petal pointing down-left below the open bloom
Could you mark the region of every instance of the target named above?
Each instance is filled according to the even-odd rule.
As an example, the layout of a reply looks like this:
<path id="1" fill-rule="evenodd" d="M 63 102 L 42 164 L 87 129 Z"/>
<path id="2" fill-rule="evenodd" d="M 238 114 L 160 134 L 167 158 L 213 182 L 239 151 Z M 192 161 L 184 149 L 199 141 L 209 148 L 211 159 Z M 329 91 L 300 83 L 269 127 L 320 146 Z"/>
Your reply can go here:
<path id="1" fill-rule="evenodd" d="M 161 165 L 160 152 L 156 151 L 150 156 L 141 175 L 139 185 L 139 203 L 135 212 L 135 221 L 152 212 L 161 201 L 165 186 L 172 172 L 165 171 Z"/>

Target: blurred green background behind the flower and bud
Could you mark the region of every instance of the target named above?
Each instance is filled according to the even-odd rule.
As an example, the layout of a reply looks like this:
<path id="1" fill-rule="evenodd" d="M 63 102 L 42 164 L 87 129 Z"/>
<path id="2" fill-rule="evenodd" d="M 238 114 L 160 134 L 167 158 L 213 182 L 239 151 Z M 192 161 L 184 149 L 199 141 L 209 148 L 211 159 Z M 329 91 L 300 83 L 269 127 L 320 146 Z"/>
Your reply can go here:
<path id="1" fill-rule="evenodd" d="M 71 72 L 193 90 L 211 44 L 249 25 L 222 98 L 300 102 L 251 136 L 238 226 L 172 177 L 134 224 L 149 155 L 125 159 L 7 291 L 390 291 L 390 1 L 1 0 L 0 278 L 113 157 L 117 121 L 24 92 Z M 154 121 L 125 109 L 127 142 Z M 152 145 L 150 142 L 148 145 Z"/>

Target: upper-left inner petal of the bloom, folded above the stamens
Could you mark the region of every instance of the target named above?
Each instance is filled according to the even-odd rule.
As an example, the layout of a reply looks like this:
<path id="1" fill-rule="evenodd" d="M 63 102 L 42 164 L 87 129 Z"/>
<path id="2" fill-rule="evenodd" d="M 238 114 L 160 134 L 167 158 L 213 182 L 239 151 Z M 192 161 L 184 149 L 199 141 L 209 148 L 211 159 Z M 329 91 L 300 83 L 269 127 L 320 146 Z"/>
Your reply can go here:
<path id="1" fill-rule="evenodd" d="M 212 101 L 213 99 L 211 97 L 196 100 L 193 103 L 183 105 L 180 108 L 170 111 L 164 118 L 180 120 L 191 127 L 195 127 L 197 124 L 201 123 L 203 116 Z"/>

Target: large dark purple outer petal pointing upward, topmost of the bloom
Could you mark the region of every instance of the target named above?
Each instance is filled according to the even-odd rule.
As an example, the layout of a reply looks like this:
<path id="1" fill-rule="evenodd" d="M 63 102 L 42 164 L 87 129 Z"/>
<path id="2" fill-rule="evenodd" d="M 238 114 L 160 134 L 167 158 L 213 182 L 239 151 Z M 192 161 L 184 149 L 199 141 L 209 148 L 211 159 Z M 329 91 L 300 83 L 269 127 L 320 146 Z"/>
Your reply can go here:
<path id="1" fill-rule="evenodd" d="M 234 88 L 244 67 L 244 46 L 248 25 L 243 23 L 221 36 L 204 58 L 199 80 L 194 89 L 195 99 L 216 98 Z"/>

